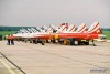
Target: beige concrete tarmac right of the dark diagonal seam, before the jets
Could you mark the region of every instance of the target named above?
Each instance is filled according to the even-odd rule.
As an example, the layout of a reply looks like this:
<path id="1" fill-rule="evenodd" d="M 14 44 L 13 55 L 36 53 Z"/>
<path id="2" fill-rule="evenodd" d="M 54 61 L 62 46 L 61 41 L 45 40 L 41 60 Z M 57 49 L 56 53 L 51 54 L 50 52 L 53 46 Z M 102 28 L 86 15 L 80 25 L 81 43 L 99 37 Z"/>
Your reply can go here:
<path id="1" fill-rule="evenodd" d="M 7 45 L 7 41 L 0 41 L 0 52 L 25 74 L 110 74 L 110 43 L 96 44 L 42 45 L 15 41 L 15 45 Z"/>

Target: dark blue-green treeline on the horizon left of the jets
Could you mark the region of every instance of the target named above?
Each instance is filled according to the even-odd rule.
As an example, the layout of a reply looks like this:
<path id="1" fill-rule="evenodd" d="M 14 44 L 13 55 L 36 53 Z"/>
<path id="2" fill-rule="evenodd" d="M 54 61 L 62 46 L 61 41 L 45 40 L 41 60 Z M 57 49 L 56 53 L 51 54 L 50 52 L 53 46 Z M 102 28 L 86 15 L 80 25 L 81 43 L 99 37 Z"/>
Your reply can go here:
<path id="1" fill-rule="evenodd" d="M 0 27 L 0 31 L 19 31 L 20 29 L 28 29 L 35 27 Z"/>

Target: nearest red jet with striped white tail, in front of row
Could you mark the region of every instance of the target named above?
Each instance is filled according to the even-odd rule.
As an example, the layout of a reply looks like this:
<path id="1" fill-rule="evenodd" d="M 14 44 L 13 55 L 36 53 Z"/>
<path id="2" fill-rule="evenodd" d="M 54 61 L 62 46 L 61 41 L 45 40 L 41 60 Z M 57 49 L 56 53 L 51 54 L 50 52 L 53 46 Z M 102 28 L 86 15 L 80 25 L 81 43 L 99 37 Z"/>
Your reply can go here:
<path id="1" fill-rule="evenodd" d="M 99 36 L 105 36 L 101 32 L 101 28 L 99 25 L 99 22 L 94 22 L 91 27 L 88 29 L 88 31 L 85 32 L 73 32 L 73 33 L 54 33 L 52 34 L 53 40 L 63 40 L 65 44 L 70 44 L 70 45 L 78 45 L 85 44 L 89 45 L 89 41 L 92 41 L 95 39 L 98 39 Z"/>

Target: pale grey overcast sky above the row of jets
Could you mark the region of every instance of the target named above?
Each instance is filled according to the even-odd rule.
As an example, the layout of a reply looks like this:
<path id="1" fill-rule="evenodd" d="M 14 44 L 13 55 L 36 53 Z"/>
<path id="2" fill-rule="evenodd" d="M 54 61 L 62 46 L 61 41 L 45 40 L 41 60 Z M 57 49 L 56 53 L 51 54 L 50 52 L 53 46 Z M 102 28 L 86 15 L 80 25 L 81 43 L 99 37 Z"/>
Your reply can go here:
<path id="1" fill-rule="evenodd" d="M 110 28 L 110 0 L 0 0 L 0 25 L 59 25 L 99 21 Z"/>

